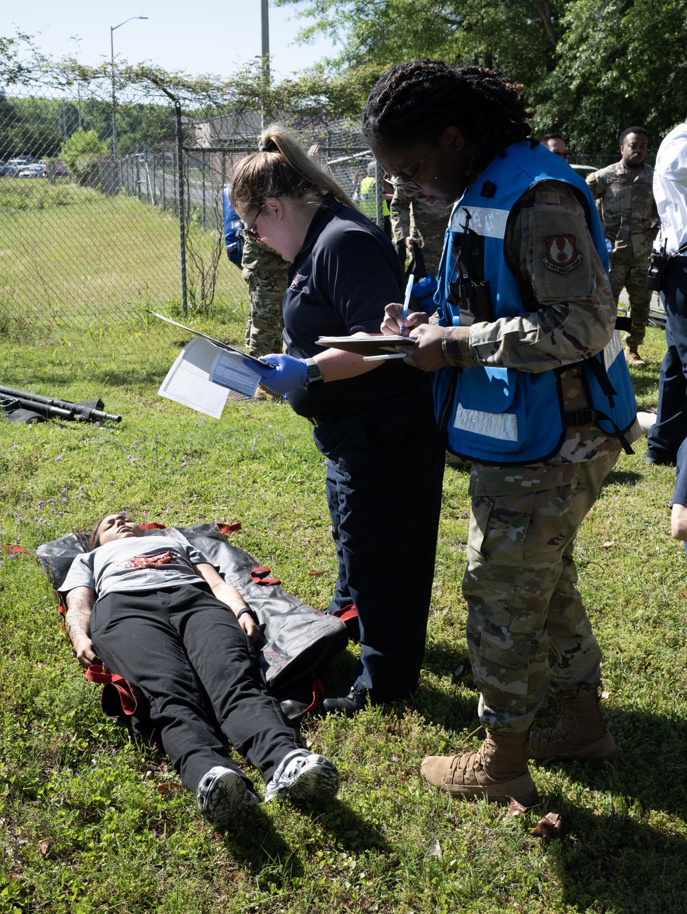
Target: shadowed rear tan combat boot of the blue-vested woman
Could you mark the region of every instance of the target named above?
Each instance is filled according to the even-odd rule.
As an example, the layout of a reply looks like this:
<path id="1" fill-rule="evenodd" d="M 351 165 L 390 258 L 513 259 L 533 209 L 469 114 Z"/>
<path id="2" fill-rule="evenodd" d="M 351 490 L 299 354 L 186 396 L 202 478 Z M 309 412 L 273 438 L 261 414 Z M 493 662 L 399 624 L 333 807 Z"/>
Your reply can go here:
<path id="1" fill-rule="evenodd" d="M 563 714 L 555 727 L 534 730 L 526 747 L 528 759 L 614 761 L 619 752 L 608 732 L 597 692 L 559 699 Z"/>

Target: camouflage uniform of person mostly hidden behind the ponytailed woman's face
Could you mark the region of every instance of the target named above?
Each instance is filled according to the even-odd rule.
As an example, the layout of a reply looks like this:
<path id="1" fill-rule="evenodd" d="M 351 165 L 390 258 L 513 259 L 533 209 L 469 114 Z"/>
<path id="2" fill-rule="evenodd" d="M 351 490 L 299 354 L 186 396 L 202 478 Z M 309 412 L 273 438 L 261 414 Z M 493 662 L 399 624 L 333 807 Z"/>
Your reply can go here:
<path id="1" fill-rule="evenodd" d="M 246 348 L 251 356 L 281 352 L 281 300 L 286 292 L 289 264 L 276 250 L 247 238 L 241 266 L 250 295 Z"/>

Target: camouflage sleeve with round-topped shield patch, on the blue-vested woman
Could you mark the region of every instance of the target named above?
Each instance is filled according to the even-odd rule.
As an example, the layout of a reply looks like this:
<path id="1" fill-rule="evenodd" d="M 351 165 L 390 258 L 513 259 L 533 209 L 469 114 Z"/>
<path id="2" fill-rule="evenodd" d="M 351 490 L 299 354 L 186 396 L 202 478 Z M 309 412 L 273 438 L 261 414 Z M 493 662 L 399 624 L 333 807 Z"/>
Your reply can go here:
<path id="1" fill-rule="evenodd" d="M 449 365 L 548 371 L 594 356 L 613 335 L 616 304 L 573 189 L 542 182 L 519 203 L 503 249 L 533 310 L 447 328 L 442 347 Z"/>

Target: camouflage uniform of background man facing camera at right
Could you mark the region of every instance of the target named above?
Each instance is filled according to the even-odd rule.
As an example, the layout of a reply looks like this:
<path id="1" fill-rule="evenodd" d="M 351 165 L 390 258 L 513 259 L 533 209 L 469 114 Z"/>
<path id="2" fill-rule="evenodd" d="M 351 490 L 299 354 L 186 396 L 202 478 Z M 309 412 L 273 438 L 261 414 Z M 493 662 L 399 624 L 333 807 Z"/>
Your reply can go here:
<path id="1" fill-rule="evenodd" d="M 628 290 L 632 329 L 625 336 L 625 343 L 630 349 L 637 349 L 644 342 L 649 321 L 651 290 L 647 286 L 647 269 L 659 229 L 652 182 L 650 165 L 628 168 L 622 159 L 587 176 L 606 233 L 616 236 L 608 257 L 608 279 L 616 304 L 623 288 Z"/>

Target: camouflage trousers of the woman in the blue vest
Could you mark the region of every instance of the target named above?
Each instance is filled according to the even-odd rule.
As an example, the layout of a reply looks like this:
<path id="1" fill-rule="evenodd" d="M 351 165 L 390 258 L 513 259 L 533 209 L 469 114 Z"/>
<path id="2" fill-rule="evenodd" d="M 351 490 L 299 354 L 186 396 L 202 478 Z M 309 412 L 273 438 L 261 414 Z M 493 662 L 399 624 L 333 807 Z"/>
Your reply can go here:
<path id="1" fill-rule="evenodd" d="M 463 596 L 485 727 L 523 732 L 548 685 L 574 698 L 599 682 L 601 653 L 576 588 L 573 545 L 617 459 L 567 464 L 565 484 L 561 467 L 544 464 L 540 491 L 472 497 Z M 547 475 L 552 485 L 542 488 Z"/>

